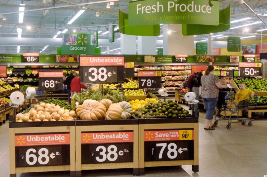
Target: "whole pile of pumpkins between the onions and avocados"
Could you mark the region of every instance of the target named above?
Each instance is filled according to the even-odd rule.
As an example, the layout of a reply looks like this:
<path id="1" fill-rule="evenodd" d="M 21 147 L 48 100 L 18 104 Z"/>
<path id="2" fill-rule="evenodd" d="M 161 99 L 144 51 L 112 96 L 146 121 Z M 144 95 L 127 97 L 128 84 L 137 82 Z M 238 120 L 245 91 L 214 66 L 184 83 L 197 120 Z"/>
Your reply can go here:
<path id="1" fill-rule="evenodd" d="M 76 115 L 81 120 L 118 120 L 129 119 L 133 114 L 130 103 L 122 101 L 112 103 L 110 99 L 85 100 L 82 105 L 77 106 Z"/>

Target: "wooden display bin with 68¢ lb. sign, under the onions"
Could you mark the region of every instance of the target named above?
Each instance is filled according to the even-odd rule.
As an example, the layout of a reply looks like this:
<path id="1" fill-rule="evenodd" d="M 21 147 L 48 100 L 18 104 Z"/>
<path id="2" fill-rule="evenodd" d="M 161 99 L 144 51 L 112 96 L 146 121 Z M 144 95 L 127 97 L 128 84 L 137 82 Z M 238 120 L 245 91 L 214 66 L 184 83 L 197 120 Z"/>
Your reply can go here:
<path id="1" fill-rule="evenodd" d="M 70 171 L 75 176 L 75 121 L 9 122 L 10 177 Z"/>

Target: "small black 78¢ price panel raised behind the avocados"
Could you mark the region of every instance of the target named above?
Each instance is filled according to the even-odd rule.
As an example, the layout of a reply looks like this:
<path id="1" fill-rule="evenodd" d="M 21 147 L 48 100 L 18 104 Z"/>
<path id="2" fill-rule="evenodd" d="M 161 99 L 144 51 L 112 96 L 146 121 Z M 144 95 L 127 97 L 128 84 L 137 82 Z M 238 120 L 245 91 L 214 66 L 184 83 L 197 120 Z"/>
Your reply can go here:
<path id="1" fill-rule="evenodd" d="M 161 88 L 161 78 L 160 77 L 139 77 L 138 88 L 139 89 Z"/>

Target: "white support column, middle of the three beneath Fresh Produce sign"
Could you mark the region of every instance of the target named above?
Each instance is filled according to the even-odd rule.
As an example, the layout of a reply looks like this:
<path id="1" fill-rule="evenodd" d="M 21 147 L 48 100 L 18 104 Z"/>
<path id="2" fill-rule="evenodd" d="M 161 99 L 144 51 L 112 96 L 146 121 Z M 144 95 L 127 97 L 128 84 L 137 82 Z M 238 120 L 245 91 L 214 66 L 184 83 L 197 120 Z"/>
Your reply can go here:
<path id="1" fill-rule="evenodd" d="M 156 55 L 156 36 L 138 36 L 138 55 Z"/>

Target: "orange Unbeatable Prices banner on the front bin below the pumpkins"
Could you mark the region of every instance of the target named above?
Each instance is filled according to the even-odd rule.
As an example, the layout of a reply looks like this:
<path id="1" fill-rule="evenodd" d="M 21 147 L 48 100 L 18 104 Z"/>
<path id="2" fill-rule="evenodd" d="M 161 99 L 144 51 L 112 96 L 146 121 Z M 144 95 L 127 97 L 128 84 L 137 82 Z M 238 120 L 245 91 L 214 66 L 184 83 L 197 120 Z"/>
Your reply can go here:
<path id="1" fill-rule="evenodd" d="M 134 142 L 134 132 L 87 132 L 81 134 L 82 144 Z"/>

